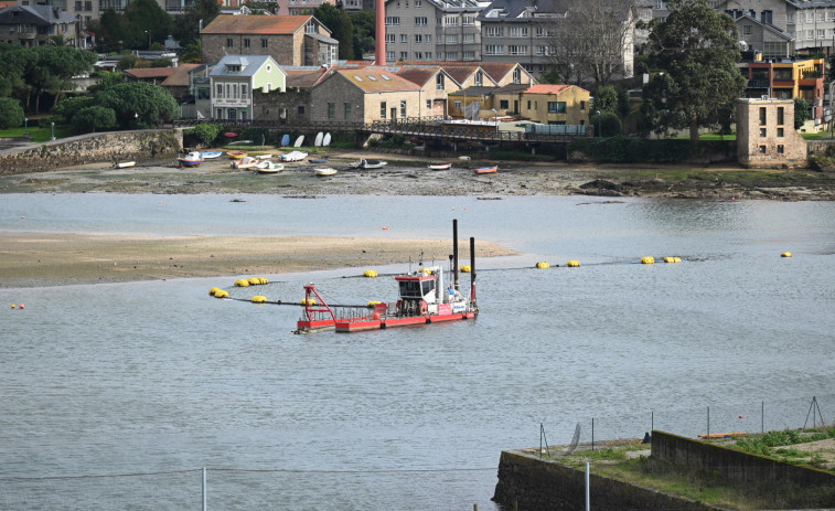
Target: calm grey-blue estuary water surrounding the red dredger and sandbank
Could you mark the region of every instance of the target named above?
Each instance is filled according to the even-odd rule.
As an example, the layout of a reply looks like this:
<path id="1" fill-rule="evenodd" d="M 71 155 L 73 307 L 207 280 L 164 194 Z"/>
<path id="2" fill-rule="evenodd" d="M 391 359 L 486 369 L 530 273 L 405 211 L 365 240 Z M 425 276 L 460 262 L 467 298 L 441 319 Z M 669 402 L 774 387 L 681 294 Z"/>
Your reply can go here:
<path id="1" fill-rule="evenodd" d="M 710 430 L 759 432 L 803 426 L 812 396 L 835 417 L 834 203 L 0 195 L 6 232 L 449 238 L 452 219 L 523 253 L 478 260 L 477 321 L 293 336 L 299 308 L 207 296 L 395 298 L 342 278 L 368 268 L 0 289 L 0 509 L 197 510 L 205 467 L 208 509 L 493 510 L 501 450 L 540 425 L 693 436 L 710 407 Z"/>

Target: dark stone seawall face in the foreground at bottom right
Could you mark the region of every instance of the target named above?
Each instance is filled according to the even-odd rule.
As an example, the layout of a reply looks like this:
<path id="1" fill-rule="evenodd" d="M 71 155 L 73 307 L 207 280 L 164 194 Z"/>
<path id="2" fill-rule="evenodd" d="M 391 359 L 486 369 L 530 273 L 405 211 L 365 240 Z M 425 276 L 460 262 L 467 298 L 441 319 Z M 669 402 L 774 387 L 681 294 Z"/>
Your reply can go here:
<path id="1" fill-rule="evenodd" d="M 596 511 L 719 509 L 593 473 L 589 481 L 591 508 Z M 586 505 L 586 472 L 526 453 L 505 450 L 499 461 L 493 501 L 520 511 L 577 511 Z"/>

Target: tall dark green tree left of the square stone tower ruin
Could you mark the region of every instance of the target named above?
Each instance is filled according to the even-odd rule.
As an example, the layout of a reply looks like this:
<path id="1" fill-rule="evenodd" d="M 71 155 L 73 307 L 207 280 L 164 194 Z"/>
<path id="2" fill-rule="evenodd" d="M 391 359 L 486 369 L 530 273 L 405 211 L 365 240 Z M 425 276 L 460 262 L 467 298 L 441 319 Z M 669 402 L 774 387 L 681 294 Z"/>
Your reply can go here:
<path id="1" fill-rule="evenodd" d="M 737 25 L 706 0 L 667 4 L 666 20 L 651 25 L 649 60 L 662 73 L 644 86 L 642 109 L 656 130 L 688 128 L 697 140 L 698 129 L 718 127 L 745 91 Z"/>

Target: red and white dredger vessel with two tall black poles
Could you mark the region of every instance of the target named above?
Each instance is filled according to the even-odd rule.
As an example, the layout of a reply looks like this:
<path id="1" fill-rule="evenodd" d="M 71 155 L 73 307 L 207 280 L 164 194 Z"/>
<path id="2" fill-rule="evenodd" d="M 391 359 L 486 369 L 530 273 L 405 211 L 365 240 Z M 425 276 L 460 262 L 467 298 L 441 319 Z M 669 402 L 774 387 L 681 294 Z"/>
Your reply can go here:
<path id="1" fill-rule="evenodd" d="M 304 286 L 304 313 L 297 333 L 323 330 L 358 332 L 384 328 L 428 324 L 442 321 L 475 319 L 475 238 L 470 238 L 470 296 L 464 296 L 458 281 L 458 221 L 452 221 L 452 281 L 446 285 L 441 266 L 424 267 L 395 277 L 399 287 L 396 304 L 371 302 L 367 307 L 329 306 L 309 284 Z M 340 312 L 338 313 L 336 310 Z"/>

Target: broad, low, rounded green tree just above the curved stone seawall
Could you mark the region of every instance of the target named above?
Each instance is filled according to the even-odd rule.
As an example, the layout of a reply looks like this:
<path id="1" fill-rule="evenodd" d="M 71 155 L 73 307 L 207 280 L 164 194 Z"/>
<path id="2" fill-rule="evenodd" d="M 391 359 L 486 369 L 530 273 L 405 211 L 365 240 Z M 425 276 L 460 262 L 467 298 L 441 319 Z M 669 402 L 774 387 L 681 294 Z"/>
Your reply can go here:
<path id="1" fill-rule="evenodd" d="M 149 128 L 180 115 L 176 99 L 159 85 L 125 82 L 96 95 L 96 105 L 111 108 L 122 129 Z"/>

